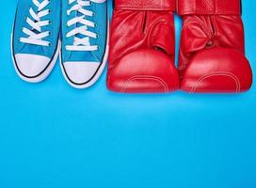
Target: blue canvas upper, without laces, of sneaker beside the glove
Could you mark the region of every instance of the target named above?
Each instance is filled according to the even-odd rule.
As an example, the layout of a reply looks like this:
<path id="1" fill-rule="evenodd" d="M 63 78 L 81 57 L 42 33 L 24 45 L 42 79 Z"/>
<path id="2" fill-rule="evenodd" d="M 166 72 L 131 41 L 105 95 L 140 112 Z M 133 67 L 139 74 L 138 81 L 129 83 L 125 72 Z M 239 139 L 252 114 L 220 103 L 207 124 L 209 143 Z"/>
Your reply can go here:
<path id="1" fill-rule="evenodd" d="M 69 5 L 69 0 L 62 0 L 62 31 L 61 31 L 61 41 L 62 41 L 62 62 L 102 62 L 105 53 L 106 46 L 106 36 L 108 29 L 107 22 L 107 5 L 104 3 L 94 3 L 91 2 L 91 6 L 85 7 L 87 10 L 94 12 L 94 16 L 86 16 L 85 18 L 96 24 L 95 27 L 88 27 L 88 31 L 96 33 L 98 35 L 97 39 L 89 38 L 90 45 L 98 45 L 100 48 L 97 51 L 68 51 L 66 50 L 66 45 L 72 45 L 75 36 L 67 38 L 66 35 L 75 27 L 81 26 L 81 24 L 73 24 L 72 26 L 67 26 L 67 22 L 76 16 L 81 16 L 79 12 L 72 11 L 71 15 L 67 15 L 67 10 L 72 8 L 75 4 L 73 2 Z M 85 36 L 76 35 L 78 38 L 84 38 Z"/>

